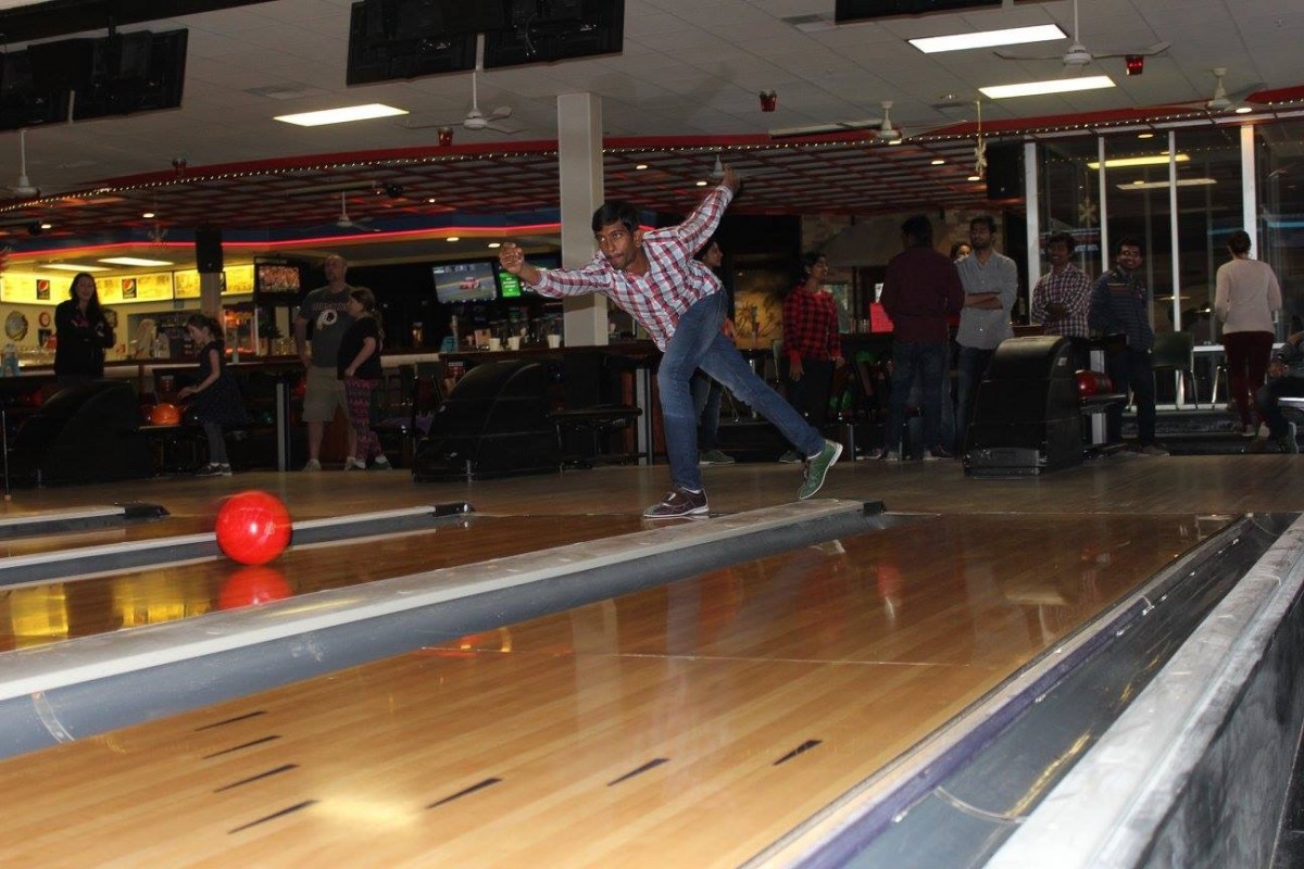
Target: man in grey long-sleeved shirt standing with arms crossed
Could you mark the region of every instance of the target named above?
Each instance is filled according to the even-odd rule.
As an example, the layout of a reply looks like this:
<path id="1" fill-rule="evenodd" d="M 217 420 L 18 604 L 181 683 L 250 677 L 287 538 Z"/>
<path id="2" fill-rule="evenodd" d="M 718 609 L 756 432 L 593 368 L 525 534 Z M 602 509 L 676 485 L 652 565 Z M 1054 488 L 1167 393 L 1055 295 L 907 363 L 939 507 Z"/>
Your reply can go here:
<path id="1" fill-rule="evenodd" d="M 956 268 L 965 288 L 965 306 L 960 311 L 956 343 L 960 345 L 956 367 L 956 449 L 964 449 L 973 416 L 974 392 L 991 362 L 996 345 L 1013 336 L 1009 311 L 1018 296 L 1018 268 L 1009 257 L 996 253 L 996 221 L 982 215 L 969 221 L 969 244 L 974 251 Z"/>

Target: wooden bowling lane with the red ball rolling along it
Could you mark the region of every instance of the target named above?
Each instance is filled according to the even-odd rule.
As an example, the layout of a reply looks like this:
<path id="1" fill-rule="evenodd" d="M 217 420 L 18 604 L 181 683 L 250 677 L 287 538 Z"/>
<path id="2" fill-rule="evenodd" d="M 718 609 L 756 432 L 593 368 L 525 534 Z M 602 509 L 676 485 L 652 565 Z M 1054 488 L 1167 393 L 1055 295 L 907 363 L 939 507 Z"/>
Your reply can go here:
<path id="1" fill-rule="evenodd" d="M 160 564 L 0 589 L 0 650 L 146 624 L 612 537 L 634 517 L 467 516 L 438 528 L 356 543 L 291 546 L 271 564 L 226 558 Z"/>

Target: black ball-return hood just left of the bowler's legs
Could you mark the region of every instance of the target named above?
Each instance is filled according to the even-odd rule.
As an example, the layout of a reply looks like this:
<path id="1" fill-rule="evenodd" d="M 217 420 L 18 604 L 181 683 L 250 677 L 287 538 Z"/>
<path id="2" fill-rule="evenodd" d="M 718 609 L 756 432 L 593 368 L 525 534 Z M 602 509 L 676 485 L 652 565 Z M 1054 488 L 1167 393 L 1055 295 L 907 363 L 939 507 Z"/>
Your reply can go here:
<path id="1" fill-rule="evenodd" d="M 419 481 L 557 470 L 550 378 L 520 360 L 484 362 L 458 380 L 412 460 Z"/>

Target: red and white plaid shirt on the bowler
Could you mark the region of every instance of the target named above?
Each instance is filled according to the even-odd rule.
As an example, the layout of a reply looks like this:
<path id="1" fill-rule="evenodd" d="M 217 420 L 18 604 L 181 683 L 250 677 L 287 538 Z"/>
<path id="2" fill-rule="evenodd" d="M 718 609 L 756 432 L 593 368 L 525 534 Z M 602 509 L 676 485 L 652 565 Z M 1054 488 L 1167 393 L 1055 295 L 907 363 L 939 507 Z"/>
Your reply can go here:
<path id="1" fill-rule="evenodd" d="M 617 271 L 599 253 L 579 270 L 541 270 L 539 283 L 527 287 L 550 297 L 604 293 L 642 323 L 664 350 L 679 317 L 721 289 L 720 279 L 692 257 L 716 231 L 732 199 L 733 190 L 719 186 L 683 223 L 645 232 L 643 253 L 648 258 L 648 271 L 644 275 Z"/>

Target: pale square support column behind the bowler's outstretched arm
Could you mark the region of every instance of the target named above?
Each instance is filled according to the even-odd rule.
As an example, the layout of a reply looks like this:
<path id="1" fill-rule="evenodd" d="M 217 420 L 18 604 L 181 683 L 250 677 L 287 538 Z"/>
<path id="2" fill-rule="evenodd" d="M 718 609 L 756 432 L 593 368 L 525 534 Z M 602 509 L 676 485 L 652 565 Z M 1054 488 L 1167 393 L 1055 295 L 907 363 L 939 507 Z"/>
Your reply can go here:
<path id="1" fill-rule="evenodd" d="M 593 258 L 589 221 L 602 205 L 602 104 L 593 94 L 557 98 L 557 164 L 561 177 L 562 266 Z M 567 347 L 606 344 L 606 296 L 563 300 Z"/>

